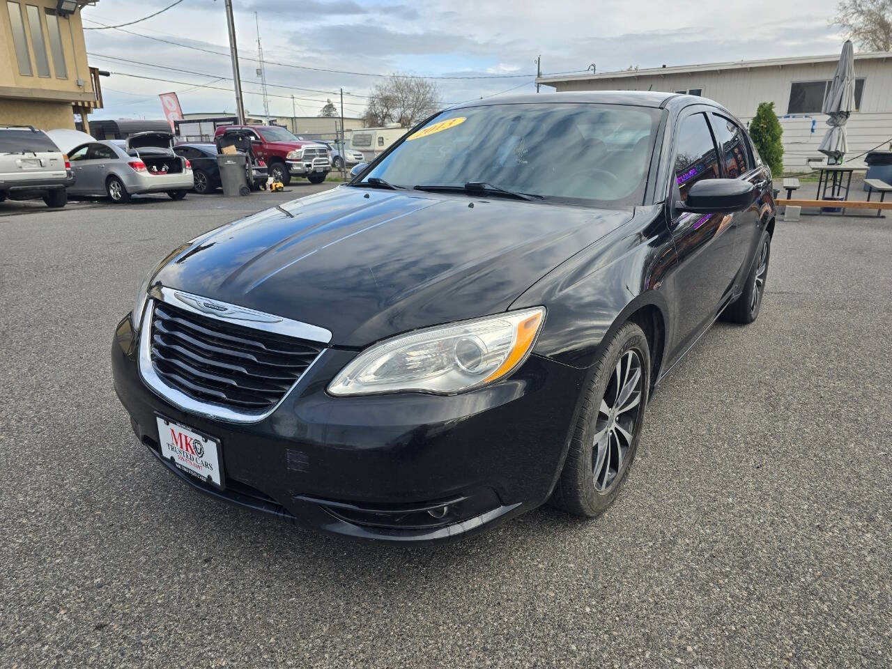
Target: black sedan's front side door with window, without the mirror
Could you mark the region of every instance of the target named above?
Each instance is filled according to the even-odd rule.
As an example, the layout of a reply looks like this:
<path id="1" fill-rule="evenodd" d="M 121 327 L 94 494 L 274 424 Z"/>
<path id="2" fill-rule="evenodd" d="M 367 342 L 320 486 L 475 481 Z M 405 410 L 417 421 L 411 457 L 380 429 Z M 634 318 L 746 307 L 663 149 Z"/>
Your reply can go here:
<path id="1" fill-rule="evenodd" d="M 706 113 L 682 117 L 673 141 L 673 195 L 684 202 L 701 179 L 719 178 L 718 152 Z M 731 297 L 739 267 L 731 214 L 681 213 L 671 208 L 670 227 L 679 267 L 673 275 L 674 359 L 688 349 Z"/>

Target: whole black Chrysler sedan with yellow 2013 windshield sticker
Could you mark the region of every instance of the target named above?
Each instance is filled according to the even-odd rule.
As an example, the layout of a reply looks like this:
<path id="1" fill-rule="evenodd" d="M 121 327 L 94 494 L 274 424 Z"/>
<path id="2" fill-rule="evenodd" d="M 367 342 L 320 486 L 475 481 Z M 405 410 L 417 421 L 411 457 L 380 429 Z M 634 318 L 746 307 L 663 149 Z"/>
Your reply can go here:
<path id="1" fill-rule="evenodd" d="M 771 175 L 706 99 L 469 103 L 358 168 L 183 244 L 120 321 L 136 435 L 202 491 L 398 542 L 597 516 L 659 380 L 759 313 Z"/>

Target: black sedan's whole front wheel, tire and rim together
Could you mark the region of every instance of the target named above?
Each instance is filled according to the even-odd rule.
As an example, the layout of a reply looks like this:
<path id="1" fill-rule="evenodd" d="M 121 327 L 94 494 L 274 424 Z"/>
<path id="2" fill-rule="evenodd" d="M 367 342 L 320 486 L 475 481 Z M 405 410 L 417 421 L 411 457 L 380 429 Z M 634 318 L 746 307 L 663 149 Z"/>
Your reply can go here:
<path id="1" fill-rule="evenodd" d="M 551 503 L 576 516 L 607 510 L 629 474 L 650 390 L 648 338 L 626 323 L 595 363 Z"/>

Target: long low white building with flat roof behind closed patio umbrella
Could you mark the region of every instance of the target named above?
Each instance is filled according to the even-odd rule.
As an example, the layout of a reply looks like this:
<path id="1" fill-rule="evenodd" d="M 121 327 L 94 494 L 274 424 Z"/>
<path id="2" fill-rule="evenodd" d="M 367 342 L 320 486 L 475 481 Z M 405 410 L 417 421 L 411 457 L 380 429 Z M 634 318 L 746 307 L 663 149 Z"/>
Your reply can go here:
<path id="1" fill-rule="evenodd" d="M 821 113 L 825 88 L 839 55 L 714 62 L 648 70 L 542 77 L 558 91 L 655 90 L 703 95 L 747 123 L 759 103 L 773 102 L 783 128 L 784 169 L 823 159 L 818 145 L 827 129 Z M 848 120 L 849 156 L 892 143 L 892 53 L 855 54 L 855 106 Z M 881 146 L 880 148 L 888 148 Z M 852 161 L 863 164 L 863 159 Z"/>

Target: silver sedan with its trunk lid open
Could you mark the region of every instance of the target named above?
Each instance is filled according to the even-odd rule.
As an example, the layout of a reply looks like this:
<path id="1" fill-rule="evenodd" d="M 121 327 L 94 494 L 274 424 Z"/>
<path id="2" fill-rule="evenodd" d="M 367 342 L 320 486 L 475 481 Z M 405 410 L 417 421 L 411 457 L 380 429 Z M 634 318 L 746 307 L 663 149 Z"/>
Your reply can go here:
<path id="1" fill-rule="evenodd" d="M 172 147 L 172 134 L 155 131 L 77 146 L 69 156 L 77 183 L 69 192 L 106 195 L 116 203 L 151 193 L 182 200 L 194 186 L 192 164 Z"/>

